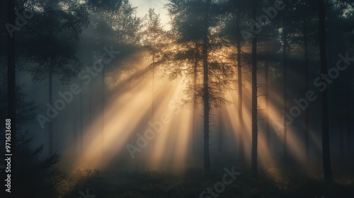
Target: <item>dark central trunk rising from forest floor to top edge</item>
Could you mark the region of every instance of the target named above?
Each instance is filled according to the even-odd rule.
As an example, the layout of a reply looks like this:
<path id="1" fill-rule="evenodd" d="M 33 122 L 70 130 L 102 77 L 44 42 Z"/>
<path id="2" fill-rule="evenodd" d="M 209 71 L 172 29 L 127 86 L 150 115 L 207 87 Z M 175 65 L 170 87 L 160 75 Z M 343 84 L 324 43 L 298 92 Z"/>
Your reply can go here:
<path id="1" fill-rule="evenodd" d="M 207 0 L 205 4 L 205 21 L 204 21 L 204 35 L 203 35 L 203 103 L 204 103 L 204 171 L 205 175 L 210 174 L 210 155 L 209 155 L 209 86 L 208 86 L 208 35 L 209 35 L 209 9 L 210 0 Z"/>

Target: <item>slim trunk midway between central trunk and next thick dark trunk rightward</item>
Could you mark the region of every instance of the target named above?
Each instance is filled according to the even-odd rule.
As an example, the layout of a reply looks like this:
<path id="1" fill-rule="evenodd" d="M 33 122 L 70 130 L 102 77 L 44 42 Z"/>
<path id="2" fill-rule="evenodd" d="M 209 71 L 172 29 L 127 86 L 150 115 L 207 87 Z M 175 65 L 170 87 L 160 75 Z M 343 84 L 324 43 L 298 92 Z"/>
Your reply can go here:
<path id="1" fill-rule="evenodd" d="M 242 117 L 242 69 L 241 69 L 241 36 L 240 9 L 236 11 L 236 45 L 237 45 L 237 79 L 239 80 L 239 161 L 244 163 L 244 117 Z"/>

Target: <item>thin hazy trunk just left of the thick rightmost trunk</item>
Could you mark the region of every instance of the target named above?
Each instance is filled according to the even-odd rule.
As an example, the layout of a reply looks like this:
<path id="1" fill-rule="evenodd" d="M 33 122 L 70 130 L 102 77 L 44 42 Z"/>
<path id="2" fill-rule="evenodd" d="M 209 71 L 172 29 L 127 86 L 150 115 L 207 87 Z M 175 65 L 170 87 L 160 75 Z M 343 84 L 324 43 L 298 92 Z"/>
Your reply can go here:
<path id="1" fill-rule="evenodd" d="M 305 92 L 309 91 L 309 47 L 307 44 L 307 18 L 304 14 L 304 64 L 305 64 Z M 305 110 L 305 155 L 309 162 L 309 107 Z"/>

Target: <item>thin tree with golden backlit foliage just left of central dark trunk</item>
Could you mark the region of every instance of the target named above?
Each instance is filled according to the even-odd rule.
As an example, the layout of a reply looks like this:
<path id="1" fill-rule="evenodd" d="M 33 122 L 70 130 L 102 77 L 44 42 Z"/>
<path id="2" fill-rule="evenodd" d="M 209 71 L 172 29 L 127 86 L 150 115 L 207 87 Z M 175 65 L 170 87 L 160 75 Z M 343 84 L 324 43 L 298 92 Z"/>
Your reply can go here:
<path id="1" fill-rule="evenodd" d="M 190 76 L 193 81 L 190 82 L 190 90 L 193 91 L 193 139 L 192 149 L 193 156 L 196 154 L 196 132 L 197 132 L 197 108 L 198 100 L 195 97 L 200 93 L 200 65 L 202 64 L 202 7 L 199 1 L 184 1 L 183 4 L 178 4 L 177 1 L 171 1 L 171 4 L 167 5 L 169 13 L 172 18 L 172 30 L 170 31 L 170 37 L 176 40 L 179 47 L 178 50 L 172 51 L 171 54 L 166 54 L 167 57 L 174 57 L 170 59 L 169 65 L 188 64 L 188 71 L 193 74 Z M 170 56 L 171 55 L 171 56 Z M 190 65 L 190 67 L 189 67 Z M 168 73 L 171 78 L 181 76 L 181 68 L 169 67 Z"/>

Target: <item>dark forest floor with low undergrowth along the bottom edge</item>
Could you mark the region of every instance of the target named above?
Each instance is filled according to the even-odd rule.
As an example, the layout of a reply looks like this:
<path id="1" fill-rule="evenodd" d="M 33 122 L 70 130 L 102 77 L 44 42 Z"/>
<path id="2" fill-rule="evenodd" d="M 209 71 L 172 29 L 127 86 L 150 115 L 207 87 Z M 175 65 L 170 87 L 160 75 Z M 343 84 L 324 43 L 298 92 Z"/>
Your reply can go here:
<path id="1" fill-rule="evenodd" d="M 209 176 L 204 175 L 202 167 L 189 168 L 183 173 L 138 168 L 124 171 L 110 168 L 104 172 L 76 170 L 76 179 L 71 181 L 72 185 L 62 185 L 65 189 L 62 189 L 64 194 L 61 197 L 354 197 L 353 173 L 326 184 L 321 177 L 309 177 L 285 168 L 281 171 L 272 168 L 259 170 L 257 179 L 253 179 L 247 169 L 236 169 L 232 170 L 232 166 L 214 167 Z M 233 171 L 236 174 L 230 174 Z"/>

